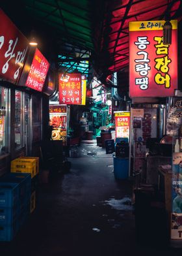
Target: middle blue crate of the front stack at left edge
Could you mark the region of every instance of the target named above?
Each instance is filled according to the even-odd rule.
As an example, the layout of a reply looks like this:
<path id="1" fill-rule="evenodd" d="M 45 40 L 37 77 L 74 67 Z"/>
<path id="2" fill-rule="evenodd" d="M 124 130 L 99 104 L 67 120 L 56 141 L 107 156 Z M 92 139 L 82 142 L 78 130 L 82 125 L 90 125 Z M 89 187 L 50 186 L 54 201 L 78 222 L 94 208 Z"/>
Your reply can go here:
<path id="1" fill-rule="evenodd" d="M 0 207 L 0 225 L 11 225 L 19 217 L 19 205 L 12 208 Z"/>

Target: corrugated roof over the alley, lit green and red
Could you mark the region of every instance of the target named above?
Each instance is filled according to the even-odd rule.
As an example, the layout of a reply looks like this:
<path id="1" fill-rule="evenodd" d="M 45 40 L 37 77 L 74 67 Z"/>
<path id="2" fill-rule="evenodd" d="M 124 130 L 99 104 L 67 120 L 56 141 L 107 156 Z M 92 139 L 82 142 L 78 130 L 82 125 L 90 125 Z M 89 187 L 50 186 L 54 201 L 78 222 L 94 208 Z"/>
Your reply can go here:
<path id="1" fill-rule="evenodd" d="M 77 63 L 85 50 L 86 60 L 104 78 L 129 65 L 129 22 L 182 16 L 180 0 L 20 0 L 15 8 L 10 2 L 3 1 L 1 7 L 27 34 L 32 26 L 37 33 L 44 31 L 57 63 L 58 56 Z"/>

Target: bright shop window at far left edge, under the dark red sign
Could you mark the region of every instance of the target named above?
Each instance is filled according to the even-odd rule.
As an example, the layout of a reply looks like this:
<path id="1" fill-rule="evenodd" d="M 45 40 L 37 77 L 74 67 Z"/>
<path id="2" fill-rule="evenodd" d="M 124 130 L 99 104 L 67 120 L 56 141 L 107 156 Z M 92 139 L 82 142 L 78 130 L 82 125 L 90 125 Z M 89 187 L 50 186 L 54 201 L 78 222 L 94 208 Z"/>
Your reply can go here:
<path id="1" fill-rule="evenodd" d="M 8 152 L 8 89 L 0 87 L 0 155 Z"/>

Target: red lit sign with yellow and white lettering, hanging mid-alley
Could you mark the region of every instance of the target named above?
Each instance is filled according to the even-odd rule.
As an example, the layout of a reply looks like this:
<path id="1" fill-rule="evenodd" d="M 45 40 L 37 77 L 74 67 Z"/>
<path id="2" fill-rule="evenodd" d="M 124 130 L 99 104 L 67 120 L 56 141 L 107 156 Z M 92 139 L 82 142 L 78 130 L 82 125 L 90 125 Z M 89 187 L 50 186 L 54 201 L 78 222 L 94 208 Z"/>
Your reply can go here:
<path id="1" fill-rule="evenodd" d="M 81 74 L 59 74 L 59 103 L 81 104 Z"/>

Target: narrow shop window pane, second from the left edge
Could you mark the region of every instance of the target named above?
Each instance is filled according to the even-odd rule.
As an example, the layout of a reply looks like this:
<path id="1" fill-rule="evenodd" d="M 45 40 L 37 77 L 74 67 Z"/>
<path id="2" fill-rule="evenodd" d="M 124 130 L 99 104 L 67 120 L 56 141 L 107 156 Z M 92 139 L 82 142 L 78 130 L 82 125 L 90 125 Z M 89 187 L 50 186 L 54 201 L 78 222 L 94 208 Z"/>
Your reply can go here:
<path id="1" fill-rule="evenodd" d="M 23 125 L 22 125 L 22 99 L 23 93 L 21 91 L 15 91 L 15 124 L 14 124 L 14 138 L 15 147 L 21 148 L 23 145 Z"/>

